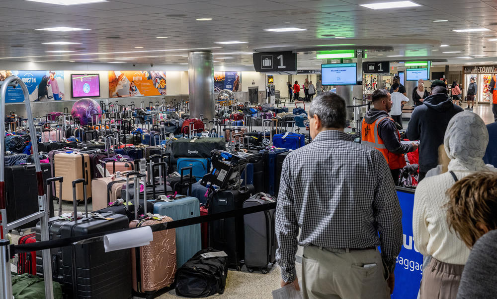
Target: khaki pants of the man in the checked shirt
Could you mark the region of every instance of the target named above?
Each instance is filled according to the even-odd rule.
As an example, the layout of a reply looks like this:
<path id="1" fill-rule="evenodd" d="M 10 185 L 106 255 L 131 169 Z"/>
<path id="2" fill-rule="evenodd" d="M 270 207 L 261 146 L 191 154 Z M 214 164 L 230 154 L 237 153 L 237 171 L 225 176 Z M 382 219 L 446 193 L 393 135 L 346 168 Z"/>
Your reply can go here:
<path id="1" fill-rule="evenodd" d="M 346 252 L 343 249 L 320 248 L 304 247 L 304 299 L 390 298 L 378 249 Z"/>

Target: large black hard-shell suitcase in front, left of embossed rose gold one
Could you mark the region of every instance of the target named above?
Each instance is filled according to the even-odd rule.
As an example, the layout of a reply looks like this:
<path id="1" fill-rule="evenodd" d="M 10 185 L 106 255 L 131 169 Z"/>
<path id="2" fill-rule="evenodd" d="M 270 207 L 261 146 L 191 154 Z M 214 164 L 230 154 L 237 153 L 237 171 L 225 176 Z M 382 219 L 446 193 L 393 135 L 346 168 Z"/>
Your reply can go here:
<path id="1" fill-rule="evenodd" d="M 85 183 L 77 179 L 75 183 Z M 85 189 L 85 188 L 83 188 Z M 76 210 L 76 200 L 73 201 Z M 85 200 L 85 205 L 86 205 Z M 127 229 L 128 217 L 101 213 L 105 220 L 84 215 L 77 221 L 52 218 L 49 222 L 50 239 L 63 239 L 94 233 Z M 86 217 L 85 217 L 86 216 Z M 41 239 L 37 226 L 36 239 Z M 105 253 L 102 242 L 73 244 L 51 249 L 52 276 L 63 286 L 68 298 L 131 298 L 131 251 L 117 250 Z M 41 255 L 36 256 L 36 271 L 43 275 Z"/>

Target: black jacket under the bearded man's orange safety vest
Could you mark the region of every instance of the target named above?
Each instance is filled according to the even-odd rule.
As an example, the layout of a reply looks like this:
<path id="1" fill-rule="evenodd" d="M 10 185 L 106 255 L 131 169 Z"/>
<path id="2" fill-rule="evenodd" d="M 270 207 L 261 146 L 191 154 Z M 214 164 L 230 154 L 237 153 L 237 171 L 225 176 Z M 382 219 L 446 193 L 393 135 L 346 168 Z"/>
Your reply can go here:
<path id="1" fill-rule="evenodd" d="M 384 116 L 390 117 L 388 113 L 383 110 L 371 108 L 368 112 L 366 112 L 364 120 L 366 123 L 371 124 L 375 120 Z M 385 143 L 387 150 L 393 154 L 405 154 L 413 151 L 412 144 L 401 143 L 397 127 L 393 121 L 383 120 L 380 122 L 378 125 L 378 135 L 380 135 L 380 138 Z"/>

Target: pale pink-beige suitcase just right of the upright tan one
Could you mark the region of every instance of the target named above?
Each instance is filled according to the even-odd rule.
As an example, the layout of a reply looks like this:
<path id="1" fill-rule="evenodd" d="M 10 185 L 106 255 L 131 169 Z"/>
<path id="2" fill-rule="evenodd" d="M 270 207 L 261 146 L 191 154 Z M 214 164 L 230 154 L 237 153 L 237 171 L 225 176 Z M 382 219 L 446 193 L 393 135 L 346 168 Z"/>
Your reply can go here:
<path id="1" fill-rule="evenodd" d="M 121 189 L 126 184 L 126 173 L 121 173 L 120 178 L 113 174 L 110 177 L 91 180 L 92 210 L 98 211 L 108 207 L 109 203 L 121 198 Z M 131 177 L 132 179 L 133 177 Z"/>

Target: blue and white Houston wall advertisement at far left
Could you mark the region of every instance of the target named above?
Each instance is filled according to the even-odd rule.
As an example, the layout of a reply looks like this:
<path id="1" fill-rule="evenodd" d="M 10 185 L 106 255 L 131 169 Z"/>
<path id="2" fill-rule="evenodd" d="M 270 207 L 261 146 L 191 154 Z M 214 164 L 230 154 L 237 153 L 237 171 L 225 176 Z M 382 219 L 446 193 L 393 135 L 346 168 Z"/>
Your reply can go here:
<path id="1" fill-rule="evenodd" d="M 26 84 L 30 102 L 61 101 L 65 99 L 64 71 L 62 70 L 0 70 L 0 81 L 17 76 Z M 5 103 L 24 102 L 20 88 L 7 88 Z"/>

